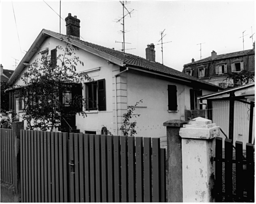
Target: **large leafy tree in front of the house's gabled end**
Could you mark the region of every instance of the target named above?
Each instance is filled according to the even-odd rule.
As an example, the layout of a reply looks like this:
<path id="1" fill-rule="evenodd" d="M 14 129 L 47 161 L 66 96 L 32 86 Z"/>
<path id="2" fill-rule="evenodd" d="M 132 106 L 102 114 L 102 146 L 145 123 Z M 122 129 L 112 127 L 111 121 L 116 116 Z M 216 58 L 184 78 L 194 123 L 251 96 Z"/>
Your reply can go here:
<path id="1" fill-rule="evenodd" d="M 54 131 L 62 119 L 68 120 L 76 113 L 86 116 L 82 110 L 82 106 L 87 107 L 86 99 L 79 94 L 72 94 L 67 101 L 69 105 L 63 103 L 65 94 L 70 93 L 77 83 L 91 81 L 87 74 L 80 75 L 76 71 L 78 64 L 83 66 L 75 55 L 78 48 L 69 43 L 69 38 L 65 45 L 65 48 L 56 47 L 57 53 L 60 53 L 56 59 L 51 59 L 46 52 L 20 77 L 25 85 L 20 89 L 20 100 L 24 100 L 26 112 L 23 119 L 27 120 L 29 129 Z"/>

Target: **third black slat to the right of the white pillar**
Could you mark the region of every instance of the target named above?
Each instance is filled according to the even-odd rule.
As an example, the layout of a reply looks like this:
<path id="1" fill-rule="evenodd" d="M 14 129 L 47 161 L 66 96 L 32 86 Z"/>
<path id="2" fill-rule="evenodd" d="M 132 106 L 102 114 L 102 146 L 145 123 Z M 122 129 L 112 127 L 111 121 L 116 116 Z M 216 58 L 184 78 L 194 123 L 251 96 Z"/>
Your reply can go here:
<path id="1" fill-rule="evenodd" d="M 243 197 L 243 143 L 236 141 L 236 199 L 242 202 Z"/>

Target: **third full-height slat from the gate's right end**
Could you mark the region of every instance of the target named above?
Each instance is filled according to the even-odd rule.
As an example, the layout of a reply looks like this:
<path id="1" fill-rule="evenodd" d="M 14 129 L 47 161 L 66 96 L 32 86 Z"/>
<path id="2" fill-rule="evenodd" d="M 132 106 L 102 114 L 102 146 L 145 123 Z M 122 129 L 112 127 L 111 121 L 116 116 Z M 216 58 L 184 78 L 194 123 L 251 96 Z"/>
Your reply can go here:
<path id="1" fill-rule="evenodd" d="M 143 137 L 136 137 L 136 202 L 144 202 Z"/>

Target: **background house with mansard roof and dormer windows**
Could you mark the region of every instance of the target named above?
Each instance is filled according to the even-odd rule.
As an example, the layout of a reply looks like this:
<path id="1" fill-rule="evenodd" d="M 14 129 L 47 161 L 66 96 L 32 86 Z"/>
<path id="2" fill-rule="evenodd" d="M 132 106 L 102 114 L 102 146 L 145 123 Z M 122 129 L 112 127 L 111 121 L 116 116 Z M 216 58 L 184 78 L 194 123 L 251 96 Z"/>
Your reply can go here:
<path id="1" fill-rule="evenodd" d="M 183 73 L 200 78 L 206 82 L 226 88 L 231 81 L 226 81 L 228 73 L 255 70 L 255 49 L 211 56 L 194 61 L 183 66 Z"/>

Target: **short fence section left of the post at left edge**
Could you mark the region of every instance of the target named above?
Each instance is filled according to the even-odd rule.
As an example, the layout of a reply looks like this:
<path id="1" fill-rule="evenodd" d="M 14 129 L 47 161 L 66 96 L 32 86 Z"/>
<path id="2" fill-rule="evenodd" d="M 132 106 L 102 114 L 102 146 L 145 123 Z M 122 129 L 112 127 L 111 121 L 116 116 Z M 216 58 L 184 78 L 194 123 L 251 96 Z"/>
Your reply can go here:
<path id="1" fill-rule="evenodd" d="M 12 129 L 0 129 L 1 139 L 1 180 L 13 184 L 12 173 Z"/>

